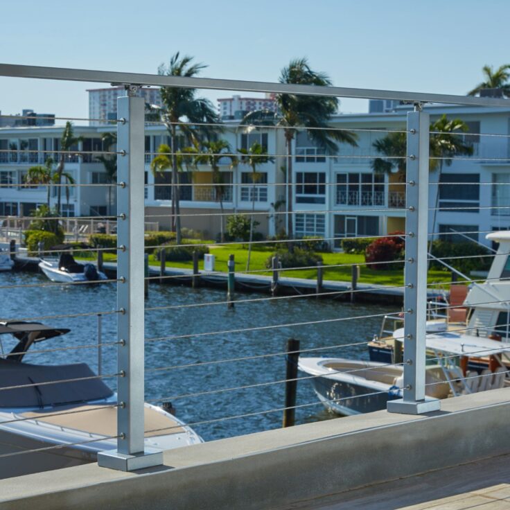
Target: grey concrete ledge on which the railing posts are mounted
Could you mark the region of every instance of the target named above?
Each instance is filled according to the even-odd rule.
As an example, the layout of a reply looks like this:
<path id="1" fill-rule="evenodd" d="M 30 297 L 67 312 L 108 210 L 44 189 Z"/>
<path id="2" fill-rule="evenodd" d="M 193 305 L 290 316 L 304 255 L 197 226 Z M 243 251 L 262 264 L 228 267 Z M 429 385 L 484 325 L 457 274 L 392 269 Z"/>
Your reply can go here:
<path id="1" fill-rule="evenodd" d="M 261 509 L 510 452 L 510 389 L 212 441 L 121 473 L 97 464 L 0 481 L 1 509 Z"/>

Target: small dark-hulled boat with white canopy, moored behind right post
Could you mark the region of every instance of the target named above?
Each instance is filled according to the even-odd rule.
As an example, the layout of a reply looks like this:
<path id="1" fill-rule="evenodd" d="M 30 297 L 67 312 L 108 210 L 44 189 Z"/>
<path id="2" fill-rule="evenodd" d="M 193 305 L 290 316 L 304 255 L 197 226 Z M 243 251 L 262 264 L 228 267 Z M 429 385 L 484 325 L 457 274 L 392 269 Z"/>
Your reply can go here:
<path id="1" fill-rule="evenodd" d="M 403 334 L 402 331 L 397 333 Z M 510 344 L 488 338 L 448 331 L 426 336 L 427 349 L 434 355 L 434 364 L 425 369 L 425 393 L 434 398 L 482 392 L 503 387 L 507 367 L 504 358 Z M 493 356 L 498 368 L 478 374 L 464 374 L 456 360 L 459 356 L 483 358 Z M 509 358 L 505 361 L 510 361 Z M 299 357 L 299 370 L 313 376 L 313 389 L 324 406 L 337 414 L 351 415 L 386 409 L 388 401 L 403 397 L 403 367 L 373 361 L 344 358 Z"/>

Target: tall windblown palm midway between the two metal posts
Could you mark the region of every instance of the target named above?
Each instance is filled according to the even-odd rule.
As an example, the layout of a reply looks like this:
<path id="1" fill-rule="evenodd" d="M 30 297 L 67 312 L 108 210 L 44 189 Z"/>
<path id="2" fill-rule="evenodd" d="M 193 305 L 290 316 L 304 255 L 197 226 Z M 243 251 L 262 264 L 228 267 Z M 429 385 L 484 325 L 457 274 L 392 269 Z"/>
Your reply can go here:
<path id="1" fill-rule="evenodd" d="M 282 69 L 279 82 L 321 87 L 332 85 L 326 73 L 313 71 L 310 68 L 306 58 L 291 60 L 288 67 Z M 338 109 L 338 99 L 333 96 L 277 94 L 276 105 L 277 113 L 264 110 L 250 112 L 243 119 L 243 123 L 272 124 L 283 128 L 287 149 L 286 184 L 288 190 L 287 210 L 289 212 L 287 234 L 289 238 L 292 238 L 292 140 L 297 128 L 304 128 L 308 137 L 328 154 L 337 152 L 337 143 L 349 143 L 351 146 L 357 146 L 358 137 L 350 131 L 333 130 L 328 125 L 328 121 Z M 289 248 L 292 249 L 292 245 L 289 245 Z"/>

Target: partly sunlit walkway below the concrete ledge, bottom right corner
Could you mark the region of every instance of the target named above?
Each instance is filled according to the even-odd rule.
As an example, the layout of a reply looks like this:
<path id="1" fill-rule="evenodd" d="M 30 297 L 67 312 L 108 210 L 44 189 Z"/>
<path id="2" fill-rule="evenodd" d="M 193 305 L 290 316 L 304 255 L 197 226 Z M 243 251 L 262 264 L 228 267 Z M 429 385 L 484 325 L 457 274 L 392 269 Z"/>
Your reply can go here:
<path id="1" fill-rule="evenodd" d="M 510 455 L 300 502 L 280 510 L 291 509 L 510 510 Z"/>

